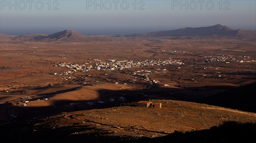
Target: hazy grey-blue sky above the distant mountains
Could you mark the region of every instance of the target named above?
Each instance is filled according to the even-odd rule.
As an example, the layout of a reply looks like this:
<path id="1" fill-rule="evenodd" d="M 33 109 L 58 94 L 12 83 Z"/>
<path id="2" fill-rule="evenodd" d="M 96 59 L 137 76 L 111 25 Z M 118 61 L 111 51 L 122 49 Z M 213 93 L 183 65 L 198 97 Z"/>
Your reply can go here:
<path id="1" fill-rule="evenodd" d="M 0 0 L 3 34 L 139 34 L 216 24 L 256 30 L 256 0 Z"/>

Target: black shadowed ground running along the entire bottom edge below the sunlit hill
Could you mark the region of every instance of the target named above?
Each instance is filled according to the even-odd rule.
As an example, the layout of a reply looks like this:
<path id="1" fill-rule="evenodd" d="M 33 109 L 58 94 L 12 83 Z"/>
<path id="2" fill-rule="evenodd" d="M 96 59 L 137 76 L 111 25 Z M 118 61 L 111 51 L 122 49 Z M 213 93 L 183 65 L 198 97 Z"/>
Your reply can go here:
<path id="1" fill-rule="evenodd" d="M 108 136 L 109 133 L 92 132 L 86 135 L 70 135 L 72 132 L 80 132 L 84 129 L 93 129 L 90 126 L 73 126 L 56 129 L 45 128 L 39 132 L 33 132 L 30 124 L 20 124 L 22 128 L 12 128 L 12 131 L 1 132 L 3 143 L 255 143 L 255 123 L 225 122 L 221 126 L 213 126 L 210 129 L 191 132 L 174 132 L 172 134 L 155 138 L 132 138 L 120 136 Z M 14 126 L 13 126 L 14 127 Z M 105 135 L 105 136 L 103 136 Z"/>

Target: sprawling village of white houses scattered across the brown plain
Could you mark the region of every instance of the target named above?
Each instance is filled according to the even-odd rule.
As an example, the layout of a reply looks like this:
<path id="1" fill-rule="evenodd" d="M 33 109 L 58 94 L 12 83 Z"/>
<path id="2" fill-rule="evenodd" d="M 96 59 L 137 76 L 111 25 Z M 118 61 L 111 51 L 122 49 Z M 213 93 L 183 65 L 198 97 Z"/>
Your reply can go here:
<path id="1" fill-rule="evenodd" d="M 186 51 L 178 51 L 178 50 L 161 50 L 157 51 L 155 53 L 182 53 L 182 54 L 196 54 L 198 55 L 198 52 L 186 52 Z M 76 72 L 88 72 L 88 71 L 119 71 L 120 73 L 124 73 L 127 75 L 133 75 L 135 79 L 132 81 L 137 80 L 143 80 L 148 81 L 151 84 L 157 84 L 159 81 L 151 80 L 149 78 L 149 75 L 151 73 L 158 73 L 160 71 L 165 71 L 167 67 L 172 65 L 173 69 L 176 69 L 176 71 L 180 71 L 181 67 L 190 67 L 194 66 L 195 62 L 197 63 L 204 63 L 202 64 L 201 69 L 212 69 L 212 70 L 218 70 L 217 67 L 207 67 L 205 64 L 209 64 L 211 62 L 221 62 L 222 64 L 231 64 L 231 63 L 243 63 L 243 62 L 256 62 L 255 60 L 252 60 L 253 57 L 251 56 L 240 56 L 240 55 L 224 55 L 221 53 L 216 54 L 216 56 L 204 56 L 201 55 L 201 57 L 198 57 L 198 59 L 162 59 L 162 60 L 135 60 L 135 61 L 117 61 L 116 59 L 109 59 L 109 60 L 101 60 L 101 59 L 91 59 L 90 62 L 86 62 L 84 64 L 77 64 L 73 62 L 64 62 L 54 63 L 55 67 L 67 67 L 69 70 L 66 72 L 60 72 L 60 73 L 51 73 L 53 75 L 62 75 L 62 76 L 69 76 L 69 77 L 63 77 L 63 80 L 69 81 L 70 79 L 76 79 L 75 77 L 70 77 L 70 75 L 73 75 Z M 186 62 L 186 63 L 185 63 Z M 167 66 L 167 67 L 166 67 Z M 143 67 L 143 70 L 140 69 Z M 150 68 L 154 67 L 154 68 Z M 160 67 L 160 68 L 159 68 Z M 170 67 L 171 68 L 171 67 Z M 150 70 L 149 70 L 150 69 Z M 169 69 L 167 69 L 169 70 Z M 184 70 L 184 69 L 183 69 Z M 185 70 L 186 72 L 186 70 Z M 187 71 L 188 72 L 188 71 Z M 206 76 L 206 73 L 201 71 L 203 76 Z M 200 73 L 200 72 L 198 72 Z M 225 77 L 221 76 L 222 71 L 212 71 L 212 75 L 217 75 L 216 78 Z M 208 73 L 209 74 L 209 73 Z M 107 75 L 107 73 L 105 73 Z M 211 77 L 212 75 L 209 75 Z M 90 76 L 90 75 L 89 75 Z M 138 79 L 137 79 L 138 77 Z M 190 79 L 191 81 L 195 81 L 195 79 Z M 131 82 L 132 82 L 131 81 Z M 118 82 L 114 82 L 118 84 Z M 163 84 L 164 86 L 168 86 L 168 84 Z"/>

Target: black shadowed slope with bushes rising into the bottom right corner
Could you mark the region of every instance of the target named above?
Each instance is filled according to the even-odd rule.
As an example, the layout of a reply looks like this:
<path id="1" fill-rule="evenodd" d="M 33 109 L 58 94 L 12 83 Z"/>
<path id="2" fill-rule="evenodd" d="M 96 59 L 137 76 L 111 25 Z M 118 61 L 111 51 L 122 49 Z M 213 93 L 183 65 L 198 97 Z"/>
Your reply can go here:
<path id="1" fill-rule="evenodd" d="M 164 137 L 136 140 L 134 143 L 255 143 L 255 123 L 225 122 L 221 126 L 194 132 L 175 132 Z"/>

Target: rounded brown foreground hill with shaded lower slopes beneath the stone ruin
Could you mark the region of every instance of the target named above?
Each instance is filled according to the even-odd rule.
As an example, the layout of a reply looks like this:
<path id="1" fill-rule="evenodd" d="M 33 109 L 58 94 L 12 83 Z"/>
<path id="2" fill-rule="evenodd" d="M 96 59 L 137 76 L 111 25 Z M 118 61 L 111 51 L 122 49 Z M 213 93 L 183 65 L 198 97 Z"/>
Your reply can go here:
<path id="1" fill-rule="evenodd" d="M 152 102 L 161 102 L 162 108 L 124 106 L 65 112 L 7 124 L 2 126 L 1 131 L 4 131 L 2 135 L 8 142 L 14 142 L 17 138 L 38 143 L 53 140 L 61 143 L 82 143 L 84 140 L 94 143 L 102 143 L 102 140 L 105 143 L 134 143 L 152 139 L 156 142 L 209 142 L 212 141 L 210 134 L 217 135 L 214 140 L 233 140 L 233 136 L 222 136 L 219 131 L 228 130 L 235 135 L 239 129 L 246 132 L 249 137 L 246 140 L 253 140 L 250 134 L 255 129 L 255 113 L 184 101 Z M 236 123 L 237 120 L 239 123 Z M 15 138 L 13 135 L 16 135 Z M 241 134 L 237 137 L 241 139 L 241 136 L 244 137 Z"/>

